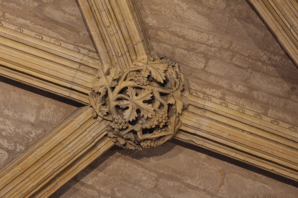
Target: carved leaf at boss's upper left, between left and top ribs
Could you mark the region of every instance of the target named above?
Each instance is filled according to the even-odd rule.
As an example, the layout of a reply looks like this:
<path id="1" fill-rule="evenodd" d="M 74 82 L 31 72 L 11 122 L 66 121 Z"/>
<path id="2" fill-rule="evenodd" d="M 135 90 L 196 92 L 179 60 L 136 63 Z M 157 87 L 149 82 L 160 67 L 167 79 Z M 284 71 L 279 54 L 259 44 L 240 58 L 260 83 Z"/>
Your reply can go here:
<path id="1" fill-rule="evenodd" d="M 120 71 L 115 67 L 110 68 L 109 75 L 105 75 L 101 70 L 96 75 L 96 79 L 92 82 L 92 90 L 101 93 L 100 96 L 105 95 L 107 87 L 114 87 L 117 85 L 117 80 L 120 77 Z"/>

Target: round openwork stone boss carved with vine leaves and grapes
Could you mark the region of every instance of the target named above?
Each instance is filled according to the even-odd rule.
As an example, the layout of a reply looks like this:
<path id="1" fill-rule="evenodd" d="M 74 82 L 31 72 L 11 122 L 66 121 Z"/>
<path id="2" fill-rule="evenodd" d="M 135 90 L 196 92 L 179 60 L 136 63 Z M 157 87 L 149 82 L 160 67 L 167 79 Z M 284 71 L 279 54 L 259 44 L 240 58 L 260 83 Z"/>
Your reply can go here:
<path id="1" fill-rule="evenodd" d="M 187 107 L 187 87 L 176 63 L 153 53 L 148 63 L 134 62 L 123 74 L 100 72 L 89 94 L 93 117 L 111 121 L 108 136 L 116 145 L 140 151 L 176 134 Z"/>

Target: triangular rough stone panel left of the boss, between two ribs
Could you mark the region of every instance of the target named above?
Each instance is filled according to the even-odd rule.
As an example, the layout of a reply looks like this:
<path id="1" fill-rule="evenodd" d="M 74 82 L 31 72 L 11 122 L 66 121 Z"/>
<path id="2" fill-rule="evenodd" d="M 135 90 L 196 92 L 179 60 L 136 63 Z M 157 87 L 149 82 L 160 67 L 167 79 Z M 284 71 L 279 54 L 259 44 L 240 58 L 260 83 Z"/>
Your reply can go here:
<path id="1" fill-rule="evenodd" d="M 37 89 L 19 85 L 0 77 L 0 169 L 77 109 L 36 94 Z"/>

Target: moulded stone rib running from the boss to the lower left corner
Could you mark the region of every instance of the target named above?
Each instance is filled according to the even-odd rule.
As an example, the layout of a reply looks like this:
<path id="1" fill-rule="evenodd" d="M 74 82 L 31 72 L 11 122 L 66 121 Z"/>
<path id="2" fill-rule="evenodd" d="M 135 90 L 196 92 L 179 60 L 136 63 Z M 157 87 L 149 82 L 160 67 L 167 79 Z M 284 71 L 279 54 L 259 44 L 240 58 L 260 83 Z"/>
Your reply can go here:
<path id="1" fill-rule="evenodd" d="M 0 172 L 0 197 L 49 197 L 110 149 L 107 121 L 82 107 Z"/>

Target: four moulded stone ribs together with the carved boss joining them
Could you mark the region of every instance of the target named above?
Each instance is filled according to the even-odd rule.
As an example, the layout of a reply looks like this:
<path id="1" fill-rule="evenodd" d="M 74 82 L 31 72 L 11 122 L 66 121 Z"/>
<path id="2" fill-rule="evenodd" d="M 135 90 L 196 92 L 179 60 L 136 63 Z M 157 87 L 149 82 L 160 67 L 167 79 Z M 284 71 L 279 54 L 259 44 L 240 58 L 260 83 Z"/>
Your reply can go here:
<path id="1" fill-rule="evenodd" d="M 189 90 L 178 64 L 148 48 L 133 0 L 78 3 L 98 56 L 0 22 L 0 75 L 86 104 L 0 172 L 0 197 L 49 197 L 115 144 L 170 138 L 298 181 L 296 126 Z M 295 61 L 296 46 L 285 47 Z"/>

